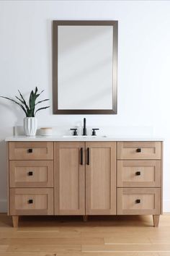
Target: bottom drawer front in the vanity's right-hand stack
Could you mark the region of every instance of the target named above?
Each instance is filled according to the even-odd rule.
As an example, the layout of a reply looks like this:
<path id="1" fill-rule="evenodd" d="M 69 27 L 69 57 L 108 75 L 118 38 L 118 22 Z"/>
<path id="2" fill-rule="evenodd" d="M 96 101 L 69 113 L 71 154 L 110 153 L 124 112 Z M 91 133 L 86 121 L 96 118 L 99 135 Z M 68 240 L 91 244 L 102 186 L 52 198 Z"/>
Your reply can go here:
<path id="1" fill-rule="evenodd" d="M 117 214 L 140 215 L 161 213 L 161 189 L 117 189 Z"/>

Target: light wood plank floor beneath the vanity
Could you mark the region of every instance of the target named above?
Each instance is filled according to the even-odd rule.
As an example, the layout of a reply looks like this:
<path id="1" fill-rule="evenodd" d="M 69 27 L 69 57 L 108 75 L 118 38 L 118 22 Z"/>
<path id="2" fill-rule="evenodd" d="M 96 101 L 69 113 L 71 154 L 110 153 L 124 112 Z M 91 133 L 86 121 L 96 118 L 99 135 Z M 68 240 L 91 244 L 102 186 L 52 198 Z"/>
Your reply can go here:
<path id="1" fill-rule="evenodd" d="M 0 256 L 170 256 L 170 214 L 22 217 L 19 228 L 0 214 Z"/>

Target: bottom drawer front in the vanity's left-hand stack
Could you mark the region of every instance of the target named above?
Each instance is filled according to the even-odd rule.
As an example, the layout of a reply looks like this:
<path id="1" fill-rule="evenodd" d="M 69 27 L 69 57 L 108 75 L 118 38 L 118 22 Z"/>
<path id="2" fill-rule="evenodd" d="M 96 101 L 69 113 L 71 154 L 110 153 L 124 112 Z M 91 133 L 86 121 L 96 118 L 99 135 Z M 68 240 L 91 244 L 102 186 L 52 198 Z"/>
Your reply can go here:
<path id="1" fill-rule="evenodd" d="M 53 215 L 53 189 L 10 189 L 10 215 Z"/>

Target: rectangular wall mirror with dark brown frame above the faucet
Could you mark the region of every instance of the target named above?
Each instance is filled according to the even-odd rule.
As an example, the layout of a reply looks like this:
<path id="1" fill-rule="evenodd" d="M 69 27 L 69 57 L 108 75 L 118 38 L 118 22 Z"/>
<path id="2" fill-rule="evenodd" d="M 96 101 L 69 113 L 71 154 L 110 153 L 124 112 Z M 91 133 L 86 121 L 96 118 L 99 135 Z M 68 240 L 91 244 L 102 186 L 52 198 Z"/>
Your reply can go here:
<path id="1" fill-rule="evenodd" d="M 53 114 L 117 114 L 117 21 L 53 21 Z"/>

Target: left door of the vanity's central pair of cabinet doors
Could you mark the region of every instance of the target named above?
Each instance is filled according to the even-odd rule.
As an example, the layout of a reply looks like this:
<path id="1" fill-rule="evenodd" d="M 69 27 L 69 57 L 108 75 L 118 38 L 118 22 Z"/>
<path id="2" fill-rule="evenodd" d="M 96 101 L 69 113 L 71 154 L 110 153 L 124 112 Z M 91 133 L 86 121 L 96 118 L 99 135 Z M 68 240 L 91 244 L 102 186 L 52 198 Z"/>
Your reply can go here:
<path id="1" fill-rule="evenodd" d="M 85 214 L 84 142 L 55 142 L 55 215 Z"/>

